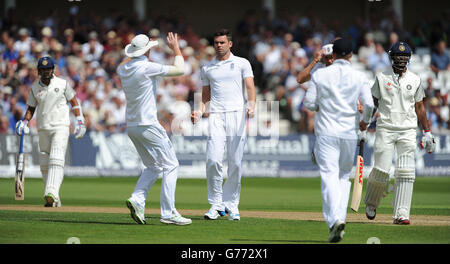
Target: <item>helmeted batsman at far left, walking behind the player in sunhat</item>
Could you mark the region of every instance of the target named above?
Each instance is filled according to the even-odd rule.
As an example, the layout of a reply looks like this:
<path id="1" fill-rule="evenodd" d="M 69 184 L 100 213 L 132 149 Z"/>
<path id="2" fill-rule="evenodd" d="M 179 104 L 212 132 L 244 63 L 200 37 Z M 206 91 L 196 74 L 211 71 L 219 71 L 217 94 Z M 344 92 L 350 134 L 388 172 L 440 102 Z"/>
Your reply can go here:
<path id="1" fill-rule="evenodd" d="M 16 133 L 29 133 L 28 122 L 37 108 L 36 123 L 39 133 L 39 164 L 44 181 L 46 207 L 60 207 L 59 190 L 64 178 L 64 165 L 69 140 L 69 102 L 77 119 L 75 138 L 86 133 L 81 107 L 69 83 L 54 75 L 55 65 L 50 57 L 42 57 L 37 65 L 40 80 L 33 83 L 27 99 L 27 111 L 16 124 Z"/>

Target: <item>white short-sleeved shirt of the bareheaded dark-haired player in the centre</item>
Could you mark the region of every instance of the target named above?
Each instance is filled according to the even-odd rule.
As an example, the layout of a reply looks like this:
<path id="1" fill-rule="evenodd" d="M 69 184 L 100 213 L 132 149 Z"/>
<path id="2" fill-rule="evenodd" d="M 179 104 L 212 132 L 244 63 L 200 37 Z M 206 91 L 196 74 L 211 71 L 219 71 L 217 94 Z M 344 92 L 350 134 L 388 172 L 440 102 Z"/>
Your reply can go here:
<path id="1" fill-rule="evenodd" d="M 202 67 L 202 85 L 211 89 L 210 112 L 243 111 L 244 79 L 253 78 L 250 62 L 233 54 L 227 60 L 217 58 Z"/>

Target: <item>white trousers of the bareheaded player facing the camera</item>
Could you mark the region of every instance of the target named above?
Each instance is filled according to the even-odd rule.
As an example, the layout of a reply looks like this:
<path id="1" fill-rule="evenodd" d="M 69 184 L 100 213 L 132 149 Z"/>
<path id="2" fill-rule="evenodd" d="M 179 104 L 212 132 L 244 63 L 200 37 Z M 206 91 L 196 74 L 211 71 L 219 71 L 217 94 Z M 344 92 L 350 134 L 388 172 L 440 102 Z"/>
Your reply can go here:
<path id="1" fill-rule="evenodd" d="M 216 210 L 238 213 L 242 157 L 246 141 L 246 112 L 211 113 L 206 145 L 208 202 Z M 227 152 L 228 178 L 223 184 L 223 159 Z"/>

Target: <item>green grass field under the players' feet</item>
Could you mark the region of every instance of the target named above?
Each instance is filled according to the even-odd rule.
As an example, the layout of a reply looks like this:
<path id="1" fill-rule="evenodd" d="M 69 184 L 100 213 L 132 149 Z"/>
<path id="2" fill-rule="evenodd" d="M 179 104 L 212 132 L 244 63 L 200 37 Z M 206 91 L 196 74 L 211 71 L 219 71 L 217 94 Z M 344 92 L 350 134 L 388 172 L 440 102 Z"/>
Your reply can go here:
<path id="1" fill-rule="evenodd" d="M 289 220 L 290 214 L 299 212 L 320 214 L 319 178 L 243 178 L 239 222 L 226 217 L 204 220 L 202 213 L 209 209 L 206 181 L 179 179 L 177 209 L 182 213 L 188 209 L 197 212 L 186 215 L 193 219 L 190 226 L 159 222 L 160 179 L 150 190 L 148 224 L 135 224 L 125 200 L 136 181 L 136 177 L 66 178 L 61 188 L 63 208 L 96 207 L 99 212 L 62 212 L 43 208 L 41 179 L 26 179 L 24 201 L 14 200 L 14 179 L 0 179 L 0 243 L 63 244 L 70 237 L 79 238 L 82 244 L 326 244 L 328 240 L 323 219 Z M 390 193 L 377 213 L 390 216 L 392 200 Z M 39 210 L 26 210 L 22 205 Z M 100 213 L 101 208 L 122 211 Z M 363 210 L 361 204 L 359 215 Z M 287 217 L 246 217 L 246 212 L 249 215 L 256 211 L 284 212 Z M 410 226 L 377 223 L 378 219 L 368 221 L 364 217 L 349 222 L 341 243 L 365 244 L 370 237 L 376 237 L 382 244 L 449 244 L 450 178 L 417 178 L 411 214 Z M 352 215 L 355 213 L 349 210 L 348 216 Z M 444 218 L 444 224 L 414 224 L 415 219 L 424 219 L 425 215 Z"/>

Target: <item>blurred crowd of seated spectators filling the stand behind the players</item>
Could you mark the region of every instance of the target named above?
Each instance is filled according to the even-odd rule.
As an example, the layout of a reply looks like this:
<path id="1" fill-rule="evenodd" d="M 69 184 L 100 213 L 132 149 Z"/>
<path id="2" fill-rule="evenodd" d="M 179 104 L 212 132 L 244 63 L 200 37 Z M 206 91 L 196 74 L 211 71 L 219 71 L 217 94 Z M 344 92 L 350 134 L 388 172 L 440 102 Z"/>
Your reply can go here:
<path id="1" fill-rule="evenodd" d="M 353 40 L 352 65 L 372 80 L 378 71 L 390 67 L 387 50 L 392 43 L 403 40 L 410 44 L 414 50 L 411 70 L 420 73 L 433 132 L 448 133 L 448 13 L 418 19 L 414 30 L 408 32 L 390 10 L 384 16 L 356 17 L 350 25 L 323 23 L 313 9 L 298 12 L 303 14 L 284 10 L 271 19 L 268 10 L 262 15 L 249 10 L 232 28 L 232 52 L 252 64 L 258 100 L 279 101 L 280 118 L 289 120 L 289 133 L 313 132 L 314 114 L 302 105 L 308 83 L 299 85 L 296 76 L 323 45 L 337 36 Z M 88 131 L 106 133 L 126 129 L 125 97 L 115 70 L 124 59 L 123 48 L 136 34 L 148 34 L 159 41 L 150 59 L 163 64 L 173 61 L 165 44 L 167 32 L 177 32 L 181 39 L 185 74 L 165 78 L 157 90 L 159 119 L 169 133 L 174 127 L 183 129 L 173 126 L 172 121 L 189 117 L 194 98 L 201 92 L 200 68 L 215 56 L 211 36 L 200 36 L 192 25 L 176 16 L 138 21 L 117 11 L 107 17 L 95 12 L 81 16 L 72 8 L 65 17 L 52 13 L 32 21 L 22 24 L 12 10 L 0 24 L 0 133 L 12 133 L 23 117 L 28 92 L 39 78 L 37 60 L 44 55 L 54 58 L 55 74 L 75 89 Z M 34 119 L 30 128 L 36 132 Z"/>

